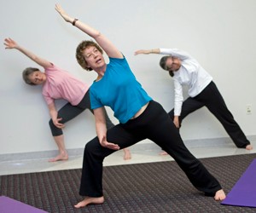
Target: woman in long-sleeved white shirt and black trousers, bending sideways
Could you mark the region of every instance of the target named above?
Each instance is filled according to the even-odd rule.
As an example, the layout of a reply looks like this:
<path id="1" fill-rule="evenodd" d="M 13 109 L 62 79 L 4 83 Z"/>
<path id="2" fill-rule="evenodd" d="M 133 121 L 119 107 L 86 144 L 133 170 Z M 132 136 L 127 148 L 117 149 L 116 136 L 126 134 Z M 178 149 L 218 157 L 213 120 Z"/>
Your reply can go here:
<path id="1" fill-rule="evenodd" d="M 166 55 L 160 59 L 160 66 L 169 72 L 174 80 L 174 108 L 168 114 L 177 128 L 183 118 L 201 107 L 207 107 L 224 126 L 236 147 L 253 149 L 250 141 L 236 123 L 230 110 L 212 81 L 212 76 L 188 53 L 179 49 L 137 50 L 138 54 Z M 183 86 L 188 86 L 189 98 L 183 101 Z"/>

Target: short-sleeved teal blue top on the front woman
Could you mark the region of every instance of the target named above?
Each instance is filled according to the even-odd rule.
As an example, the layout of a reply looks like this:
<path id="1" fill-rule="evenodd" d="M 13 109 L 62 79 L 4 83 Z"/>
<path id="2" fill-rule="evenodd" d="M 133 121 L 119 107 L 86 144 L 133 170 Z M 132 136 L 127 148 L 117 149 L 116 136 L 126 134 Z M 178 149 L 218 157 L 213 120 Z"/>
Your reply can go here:
<path id="1" fill-rule="evenodd" d="M 150 100 L 152 98 L 137 82 L 125 57 L 109 58 L 103 78 L 90 86 L 91 108 L 111 107 L 121 124 L 125 124 Z"/>

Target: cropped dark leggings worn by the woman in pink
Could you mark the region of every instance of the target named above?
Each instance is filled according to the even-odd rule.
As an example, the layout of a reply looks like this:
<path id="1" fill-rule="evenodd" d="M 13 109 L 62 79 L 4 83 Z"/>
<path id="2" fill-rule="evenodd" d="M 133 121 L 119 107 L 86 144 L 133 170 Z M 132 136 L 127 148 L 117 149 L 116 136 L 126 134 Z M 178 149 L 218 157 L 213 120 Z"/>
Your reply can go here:
<path id="1" fill-rule="evenodd" d="M 77 117 L 81 112 L 84 112 L 85 109 L 89 109 L 91 113 L 93 110 L 90 108 L 90 91 L 88 90 L 84 95 L 82 101 L 79 102 L 77 106 L 73 106 L 70 103 L 67 103 L 58 111 L 58 118 L 62 118 L 60 123 L 65 124 L 67 121 Z M 105 110 L 105 108 L 104 108 Z M 107 129 L 110 129 L 114 126 L 111 120 L 108 118 L 108 113 L 106 112 L 106 124 Z M 52 119 L 49 120 L 49 128 L 53 136 L 63 135 L 63 131 L 60 128 L 57 128 L 53 123 Z"/>

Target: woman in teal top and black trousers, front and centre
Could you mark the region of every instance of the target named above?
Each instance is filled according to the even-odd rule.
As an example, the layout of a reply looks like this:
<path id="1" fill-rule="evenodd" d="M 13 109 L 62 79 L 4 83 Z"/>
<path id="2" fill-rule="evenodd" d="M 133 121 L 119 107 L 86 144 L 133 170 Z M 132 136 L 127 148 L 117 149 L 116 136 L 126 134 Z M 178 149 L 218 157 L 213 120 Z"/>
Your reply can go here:
<path id="1" fill-rule="evenodd" d="M 184 146 L 177 128 L 161 105 L 153 101 L 131 72 L 124 55 L 107 37 L 94 28 L 70 17 L 61 6 L 55 9 L 62 18 L 96 40 L 83 41 L 77 48 L 77 60 L 85 70 L 97 73 L 90 87 L 91 107 L 96 118 L 97 137 L 84 148 L 80 195 L 84 199 L 76 208 L 102 204 L 102 162 L 120 148 L 129 147 L 148 138 L 174 158 L 189 181 L 207 196 L 225 198 L 219 182 Z M 106 64 L 102 49 L 109 57 Z M 109 106 L 120 124 L 107 131 L 103 106 Z"/>

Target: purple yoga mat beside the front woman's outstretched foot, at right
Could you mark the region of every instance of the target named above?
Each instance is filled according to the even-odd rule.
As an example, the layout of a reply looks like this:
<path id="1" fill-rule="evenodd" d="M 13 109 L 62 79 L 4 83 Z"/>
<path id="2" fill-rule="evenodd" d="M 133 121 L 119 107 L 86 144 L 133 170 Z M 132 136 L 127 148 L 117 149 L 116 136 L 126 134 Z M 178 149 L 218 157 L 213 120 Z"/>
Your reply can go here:
<path id="1" fill-rule="evenodd" d="M 249 165 L 221 204 L 256 207 L 256 159 Z"/>

